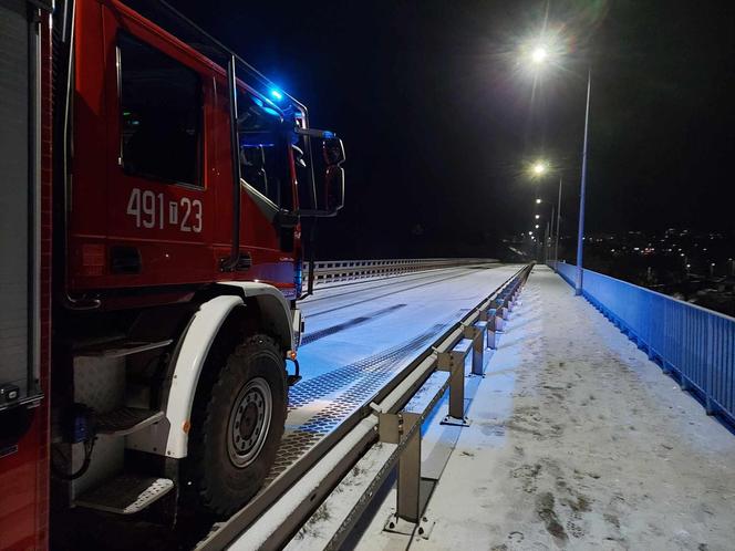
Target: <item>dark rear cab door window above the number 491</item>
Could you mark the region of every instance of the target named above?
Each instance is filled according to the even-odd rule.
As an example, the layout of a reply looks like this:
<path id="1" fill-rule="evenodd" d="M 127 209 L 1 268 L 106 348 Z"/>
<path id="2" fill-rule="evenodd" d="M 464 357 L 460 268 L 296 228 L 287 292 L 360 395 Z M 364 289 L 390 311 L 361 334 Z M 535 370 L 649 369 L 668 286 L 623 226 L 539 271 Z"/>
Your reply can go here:
<path id="1" fill-rule="evenodd" d="M 189 67 L 117 38 L 122 164 L 127 174 L 201 185 L 201 84 Z"/>

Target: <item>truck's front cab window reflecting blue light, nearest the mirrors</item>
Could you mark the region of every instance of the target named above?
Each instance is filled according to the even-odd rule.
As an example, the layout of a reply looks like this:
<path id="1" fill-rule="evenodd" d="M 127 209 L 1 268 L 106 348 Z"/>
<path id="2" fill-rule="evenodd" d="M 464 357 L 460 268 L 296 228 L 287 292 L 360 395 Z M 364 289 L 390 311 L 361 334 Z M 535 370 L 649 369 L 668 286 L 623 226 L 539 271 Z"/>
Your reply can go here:
<path id="1" fill-rule="evenodd" d="M 238 91 L 237 108 L 242 179 L 276 206 L 292 208 L 281 115 L 256 95 L 241 90 Z"/>

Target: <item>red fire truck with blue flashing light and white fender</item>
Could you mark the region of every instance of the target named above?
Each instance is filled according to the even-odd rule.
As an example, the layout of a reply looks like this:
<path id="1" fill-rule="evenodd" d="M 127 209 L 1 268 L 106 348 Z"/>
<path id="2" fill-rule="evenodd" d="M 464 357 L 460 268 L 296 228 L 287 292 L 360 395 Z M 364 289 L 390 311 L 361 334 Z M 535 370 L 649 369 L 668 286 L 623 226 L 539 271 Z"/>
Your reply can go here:
<path id="1" fill-rule="evenodd" d="M 283 433 L 342 143 L 163 0 L 0 25 L 0 549 L 225 518 Z"/>

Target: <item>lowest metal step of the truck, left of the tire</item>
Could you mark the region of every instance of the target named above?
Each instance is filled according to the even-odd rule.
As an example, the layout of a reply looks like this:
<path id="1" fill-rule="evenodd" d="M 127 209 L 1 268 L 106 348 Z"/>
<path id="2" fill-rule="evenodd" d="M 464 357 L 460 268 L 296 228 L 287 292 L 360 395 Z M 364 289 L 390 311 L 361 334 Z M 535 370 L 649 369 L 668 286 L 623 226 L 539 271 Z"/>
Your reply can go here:
<path id="1" fill-rule="evenodd" d="M 74 500 L 77 507 L 117 514 L 133 514 L 163 498 L 174 488 L 168 478 L 118 475 L 85 491 Z"/>

